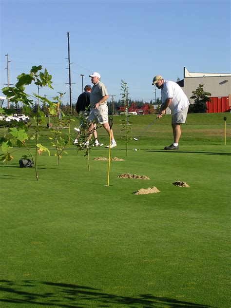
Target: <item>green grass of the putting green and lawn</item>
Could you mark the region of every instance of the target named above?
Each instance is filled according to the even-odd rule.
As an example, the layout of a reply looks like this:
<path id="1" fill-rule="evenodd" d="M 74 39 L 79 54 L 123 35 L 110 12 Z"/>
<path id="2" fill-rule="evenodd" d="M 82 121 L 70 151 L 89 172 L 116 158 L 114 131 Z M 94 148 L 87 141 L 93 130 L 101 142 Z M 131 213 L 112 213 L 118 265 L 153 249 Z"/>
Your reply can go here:
<path id="1" fill-rule="evenodd" d="M 0 307 L 231 307 L 231 117 L 225 146 L 223 115 L 198 115 L 198 124 L 189 115 L 175 152 L 163 151 L 172 142 L 166 116 L 131 141 L 128 156 L 115 117 L 111 157 L 125 160 L 111 162 L 110 186 L 108 162 L 93 160 L 108 157 L 105 148 L 91 151 L 89 172 L 74 146 L 59 167 L 54 150 L 42 154 L 39 181 L 34 168 L 19 168 L 25 150 L 0 163 Z M 132 117 L 134 136 L 153 120 L 142 118 Z M 153 186 L 160 193 L 133 194 Z"/>

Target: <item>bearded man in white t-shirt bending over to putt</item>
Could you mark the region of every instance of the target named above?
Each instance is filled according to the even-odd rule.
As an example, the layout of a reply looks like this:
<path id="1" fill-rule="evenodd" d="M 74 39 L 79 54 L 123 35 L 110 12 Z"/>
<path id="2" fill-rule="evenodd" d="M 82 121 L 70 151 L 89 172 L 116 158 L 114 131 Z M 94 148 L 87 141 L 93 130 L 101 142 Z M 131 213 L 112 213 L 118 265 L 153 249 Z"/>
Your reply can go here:
<path id="1" fill-rule="evenodd" d="M 173 143 L 165 147 L 165 150 L 179 150 L 179 139 L 181 135 L 180 124 L 185 123 L 189 109 L 189 100 L 181 87 L 174 81 L 164 80 L 157 75 L 153 78 L 153 85 L 161 89 L 161 106 L 157 118 L 165 114 L 169 107 L 172 113 Z"/>

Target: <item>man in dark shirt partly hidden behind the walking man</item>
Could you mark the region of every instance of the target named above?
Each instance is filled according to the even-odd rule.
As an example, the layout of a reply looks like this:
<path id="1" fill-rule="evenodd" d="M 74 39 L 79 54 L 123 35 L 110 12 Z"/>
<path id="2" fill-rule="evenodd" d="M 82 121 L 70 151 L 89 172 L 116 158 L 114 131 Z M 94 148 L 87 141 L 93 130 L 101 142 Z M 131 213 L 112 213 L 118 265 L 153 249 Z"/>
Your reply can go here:
<path id="1" fill-rule="evenodd" d="M 92 89 L 91 85 L 87 84 L 84 87 L 84 92 L 78 96 L 77 103 L 76 103 L 76 111 L 79 115 L 89 116 L 91 89 Z M 80 122 L 79 124 L 81 125 L 82 123 Z M 94 132 L 93 132 L 93 136 L 95 138 L 94 146 L 95 147 L 98 147 L 98 146 L 101 147 L 101 146 L 103 146 L 103 143 L 99 143 L 98 140 L 97 140 L 96 125 L 94 126 L 94 129 L 95 129 Z M 78 136 L 74 140 L 73 144 L 74 145 L 78 144 Z"/>

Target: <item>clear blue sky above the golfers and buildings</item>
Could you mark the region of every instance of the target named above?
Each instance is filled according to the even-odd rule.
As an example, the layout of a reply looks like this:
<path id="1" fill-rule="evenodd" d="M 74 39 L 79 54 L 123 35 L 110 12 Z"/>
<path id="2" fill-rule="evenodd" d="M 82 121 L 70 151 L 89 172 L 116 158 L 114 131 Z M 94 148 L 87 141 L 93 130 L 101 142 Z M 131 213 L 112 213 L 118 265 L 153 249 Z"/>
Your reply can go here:
<path id="1" fill-rule="evenodd" d="M 0 88 L 7 83 L 8 54 L 10 83 L 41 64 L 55 91 L 40 94 L 66 92 L 69 103 L 69 32 L 73 103 L 82 92 L 80 74 L 91 84 L 95 71 L 116 100 L 123 79 L 132 99 L 149 102 L 155 75 L 176 81 L 184 66 L 231 73 L 230 16 L 230 0 L 0 0 Z"/>

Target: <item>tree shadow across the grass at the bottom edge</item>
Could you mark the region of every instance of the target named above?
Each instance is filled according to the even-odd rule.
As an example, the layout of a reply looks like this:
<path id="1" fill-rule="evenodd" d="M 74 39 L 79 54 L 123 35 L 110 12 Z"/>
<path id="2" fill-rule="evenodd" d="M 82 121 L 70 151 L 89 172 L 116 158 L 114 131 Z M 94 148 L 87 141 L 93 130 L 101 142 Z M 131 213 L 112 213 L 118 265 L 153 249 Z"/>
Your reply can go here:
<path id="1" fill-rule="evenodd" d="M 42 292 L 39 290 L 43 290 Z M 186 301 L 179 301 L 167 297 L 158 297 L 150 294 L 137 296 L 119 296 L 101 292 L 86 286 L 63 284 L 44 281 L 21 281 L 15 283 L 9 280 L 0 280 L 0 302 L 33 307 L 35 305 L 47 307 L 182 307 L 182 308 L 209 308 Z M 30 305 L 30 306 L 29 306 Z"/>

